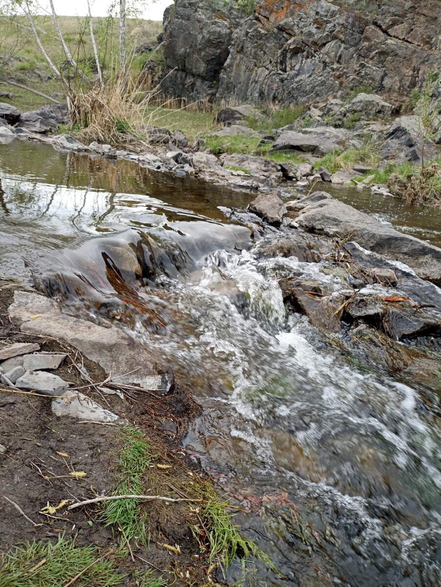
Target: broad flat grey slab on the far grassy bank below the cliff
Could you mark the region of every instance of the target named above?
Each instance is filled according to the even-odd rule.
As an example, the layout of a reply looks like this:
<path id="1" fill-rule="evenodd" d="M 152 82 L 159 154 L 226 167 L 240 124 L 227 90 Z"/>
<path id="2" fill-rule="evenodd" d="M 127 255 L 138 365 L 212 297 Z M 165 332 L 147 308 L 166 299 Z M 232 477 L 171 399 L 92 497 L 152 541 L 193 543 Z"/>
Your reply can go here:
<path id="1" fill-rule="evenodd" d="M 354 133 L 347 129 L 334 129 L 330 126 L 317 126 L 301 131 L 284 127 L 273 145 L 274 151 L 304 151 L 321 157 L 342 147 L 361 147 L 361 141 L 354 138 Z"/>

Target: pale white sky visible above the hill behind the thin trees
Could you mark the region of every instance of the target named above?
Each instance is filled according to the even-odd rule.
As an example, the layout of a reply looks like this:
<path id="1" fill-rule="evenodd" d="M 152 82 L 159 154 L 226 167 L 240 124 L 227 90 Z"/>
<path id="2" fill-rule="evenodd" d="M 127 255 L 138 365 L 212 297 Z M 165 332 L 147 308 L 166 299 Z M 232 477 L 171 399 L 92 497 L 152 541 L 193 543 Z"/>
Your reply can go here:
<path id="1" fill-rule="evenodd" d="M 49 2 L 40 0 L 39 4 L 42 8 L 49 11 Z M 53 4 L 59 16 L 85 16 L 87 14 L 87 0 L 73 0 L 70 2 L 66 0 L 53 0 Z M 110 0 L 90 0 L 92 16 L 106 16 L 110 4 Z M 170 4 L 173 4 L 173 0 L 148 0 L 145 2 L 146 8 L 143 10 L 143 18 L 151 21 L 162 21 L 164 10 Z"/>

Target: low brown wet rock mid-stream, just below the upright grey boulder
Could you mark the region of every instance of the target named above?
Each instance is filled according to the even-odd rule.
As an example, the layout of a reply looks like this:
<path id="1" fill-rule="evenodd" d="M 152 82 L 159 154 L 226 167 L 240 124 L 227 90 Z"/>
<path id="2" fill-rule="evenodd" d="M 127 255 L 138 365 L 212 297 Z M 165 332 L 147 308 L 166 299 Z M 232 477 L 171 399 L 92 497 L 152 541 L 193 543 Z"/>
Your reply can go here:
<path id="1" fill-rule="evenodd" d="M 328 251 L 328 245 L 314 235 L 293 230 L 286 235 L 270 235 L 256 246 L 262 257 L 297 257 L 301 262 L 318 263 Z"/>

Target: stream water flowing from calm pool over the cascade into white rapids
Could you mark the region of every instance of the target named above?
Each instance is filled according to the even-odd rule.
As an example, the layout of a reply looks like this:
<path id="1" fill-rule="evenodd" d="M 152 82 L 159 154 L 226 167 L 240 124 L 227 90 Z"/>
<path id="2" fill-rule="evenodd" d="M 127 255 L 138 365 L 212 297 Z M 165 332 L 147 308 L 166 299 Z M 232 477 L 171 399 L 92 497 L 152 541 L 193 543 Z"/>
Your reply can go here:
<path id="1" fill-rule="evenodd" d="M 26 258 L 67 311 L 112 318 L 203 406 L 185 450 L 280 570 L 248 584 L 441 585 L 440 381 L 366 365 L 287 312 L 276 275 L 342 284 L 262 258 L 276 231 L 243 212 L 252 195 L 18 141 L 0 145 L 0 180 L 0 265 Z M 438 212 L 334 195 L 439 244 Z"/>

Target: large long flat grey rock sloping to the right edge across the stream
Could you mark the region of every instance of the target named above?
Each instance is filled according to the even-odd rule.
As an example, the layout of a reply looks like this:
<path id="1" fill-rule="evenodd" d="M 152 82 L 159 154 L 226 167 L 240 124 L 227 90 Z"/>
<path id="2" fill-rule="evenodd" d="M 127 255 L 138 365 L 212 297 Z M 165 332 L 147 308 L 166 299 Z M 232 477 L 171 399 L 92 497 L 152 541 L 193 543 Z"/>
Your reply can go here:
<path id="1" fill-rule="evenodd" d="M 308 203 L 297 218 L 310 232 L 349 238 L 386 259 L 408 265 L 422 279 L 441 281 L 441 249 L 381 224 L 364 212 L 334 198 Z"/>

